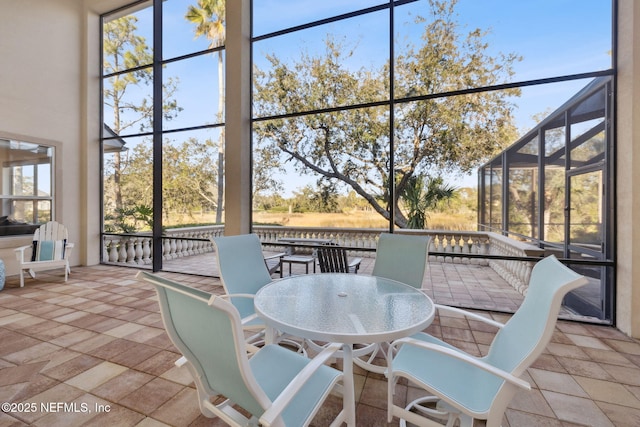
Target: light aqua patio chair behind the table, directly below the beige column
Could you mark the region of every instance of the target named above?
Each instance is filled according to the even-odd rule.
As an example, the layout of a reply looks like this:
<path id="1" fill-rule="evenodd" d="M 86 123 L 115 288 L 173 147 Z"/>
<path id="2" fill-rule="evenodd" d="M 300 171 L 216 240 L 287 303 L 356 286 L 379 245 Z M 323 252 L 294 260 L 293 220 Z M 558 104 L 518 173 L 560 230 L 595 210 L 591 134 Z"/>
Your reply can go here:
<path id="1" fill-rule="evenodd" d="M 220 281 L 231 303 L 238 309 L 247 331 L 255 332 L 247 338 L 253 344 L 263 343 L 266 325 L 253 308 L 253 296 L 264 285 L 271 282 L 271 274 L 262 253 L 262 245 L 256 234 L 211 238 L 216 251 Z M 302 344 L 292 339 L 279 338 L 285 344 L 303 351 Z"/>

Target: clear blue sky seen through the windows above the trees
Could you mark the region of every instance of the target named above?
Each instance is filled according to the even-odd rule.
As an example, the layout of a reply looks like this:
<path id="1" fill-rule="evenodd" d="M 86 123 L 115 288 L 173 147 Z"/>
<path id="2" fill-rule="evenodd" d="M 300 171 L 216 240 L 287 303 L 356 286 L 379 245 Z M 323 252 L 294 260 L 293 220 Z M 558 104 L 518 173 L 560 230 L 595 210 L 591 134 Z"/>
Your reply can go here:
<path id="1" fill-rule="evenodd" d="M 173 57 L 205 49 L 204 38 L 195 39 L 193 25 L 184 19 L 187 6 L 194 0 L 164 2 L 164 57 Z M 323 19 L 385 2 L 374 0 L 254 0 L 254 34 L 260 35 L 308 21 Z M 415 16 L 428 18 L 428 2 L 422 0 L 396 9 L 396 33 L 419 42 L 422 26 Z M 554 77 L 608 69 L 611 66 L 610 0 L 460 0 L 456 7 L 464 32 L 475 28 L 488 30 L 486 40 L 493 54 L 517 53 L 523 61 L 516 63 L 513 81 Z M 150 13 L 138 13 L 139 30 L 151 40 Z M 323 48 L 327 33 L 344 37 L 354 47 L 353 67 L 379 66 L 388 52 L 387 14 L 379 12 L 328 24 L 286 37 L 257 44 L 254 62 L 265 64 L 261 57 L 275 53 L 281 58 L 296 58 L 301 47 L 308 52 Z M 212 121 L 217 108 L 217 77 L 211 55 L 167 67 L 165 73 L 180 77 L 178 102 L 184 108 L 172 127 L 192 126 Z M 170 72 L 170 73 L 169 73 Z M 524 133 L 534 126 L 534 114 L 551 111 L 587 81 L 545 85 L 523 89 L 516 100 L 517 126 Z M 287 181 L 296 181 L 287 179 Z M 475 175 L 464 178 L 463 185 L 475 185 Z M 296 184 L 287 187 L 290 191 Z"/>

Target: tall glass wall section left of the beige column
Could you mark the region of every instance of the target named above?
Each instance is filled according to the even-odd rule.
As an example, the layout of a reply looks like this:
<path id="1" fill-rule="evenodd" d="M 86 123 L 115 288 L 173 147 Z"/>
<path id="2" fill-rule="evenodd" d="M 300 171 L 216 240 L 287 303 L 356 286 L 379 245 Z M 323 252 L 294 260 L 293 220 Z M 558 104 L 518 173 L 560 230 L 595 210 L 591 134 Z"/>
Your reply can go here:
<path id="1" fill-rule="evenodd" d="M 183 230 L 224 222 L 224 24 L 224 1 L 104 15 L 104 261 L 171 268 L 200 244 Z"/>

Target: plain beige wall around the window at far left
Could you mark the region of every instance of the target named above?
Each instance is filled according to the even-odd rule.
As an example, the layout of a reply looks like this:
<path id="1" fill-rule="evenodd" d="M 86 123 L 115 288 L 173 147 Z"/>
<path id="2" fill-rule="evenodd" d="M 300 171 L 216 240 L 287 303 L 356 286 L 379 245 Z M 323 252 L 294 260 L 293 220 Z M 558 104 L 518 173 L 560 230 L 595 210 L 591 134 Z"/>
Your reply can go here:
<path id="1" fill-rule="evenodd" d="M 3 1 L 0 6 L 0 135 L 55 144 L 56 219 L 80 233 L 80 8 L 73 0 Z M 2 239 L 0 257 L 30 237 Z M 79 253 L 72 262 L 78 264 Z"/>

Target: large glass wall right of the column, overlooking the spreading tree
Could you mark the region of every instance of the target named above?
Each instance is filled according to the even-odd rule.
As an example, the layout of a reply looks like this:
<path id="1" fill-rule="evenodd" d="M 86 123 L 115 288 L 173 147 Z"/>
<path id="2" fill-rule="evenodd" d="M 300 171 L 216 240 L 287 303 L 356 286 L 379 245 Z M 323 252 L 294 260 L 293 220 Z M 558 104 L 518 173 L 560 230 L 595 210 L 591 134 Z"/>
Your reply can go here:
<path id="1" fill-rule="evenodd" d="M 612 72 L 610 0 L 254 0 L 252 23 L 259 224 L 475 229 L 457 195 L 477 193 L 477 168 Z M 537 165 L 491 172 L 520 183 L 509 208 L 488 196 L 492 223 L 562 240 L 549 161 L 559 199 L 541 213 Z"/>

